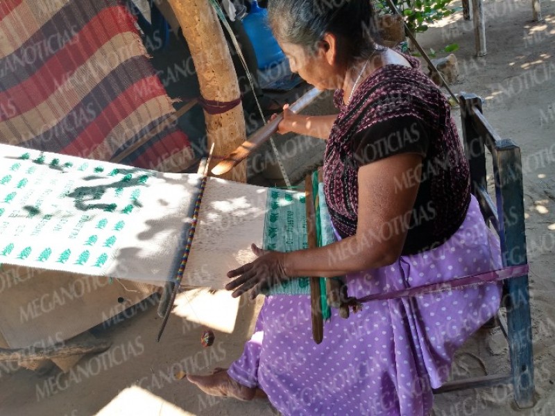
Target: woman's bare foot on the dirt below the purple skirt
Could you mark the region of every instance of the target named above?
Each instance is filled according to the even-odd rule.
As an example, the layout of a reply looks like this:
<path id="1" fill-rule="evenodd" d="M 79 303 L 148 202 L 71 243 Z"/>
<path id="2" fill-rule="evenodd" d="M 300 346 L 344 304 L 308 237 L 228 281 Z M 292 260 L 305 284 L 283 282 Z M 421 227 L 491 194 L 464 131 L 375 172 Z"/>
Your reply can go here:
<path id="1" fill-rule="evenodd" d="M 234 381 L 225 368 L 215 368 L 208 376 L 187 376 L 187 380 L 197 385 L 207 395 L 219 397 L 234 397 L 235 399 L 250 401 L 254 398 L 266 399 L 266 393 L 259 388 L 247 387 Z"/>

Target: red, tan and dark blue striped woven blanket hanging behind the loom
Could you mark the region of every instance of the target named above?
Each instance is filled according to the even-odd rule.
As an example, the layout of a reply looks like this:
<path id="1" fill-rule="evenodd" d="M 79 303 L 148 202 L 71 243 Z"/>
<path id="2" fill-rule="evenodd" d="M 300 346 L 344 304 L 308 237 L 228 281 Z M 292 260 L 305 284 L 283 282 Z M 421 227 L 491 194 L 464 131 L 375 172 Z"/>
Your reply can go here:
<path id="1" fill-rule="evenodd" d="M 121 1 L 0 1 L 0 143 L 182 171 L 173 112 Z"/>

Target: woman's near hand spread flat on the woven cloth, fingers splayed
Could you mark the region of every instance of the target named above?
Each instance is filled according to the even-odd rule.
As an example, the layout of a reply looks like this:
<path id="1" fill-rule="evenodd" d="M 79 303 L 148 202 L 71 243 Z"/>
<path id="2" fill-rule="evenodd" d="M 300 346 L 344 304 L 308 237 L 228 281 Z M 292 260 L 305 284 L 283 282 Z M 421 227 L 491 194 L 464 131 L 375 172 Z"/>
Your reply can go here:
<path id="1" fill-rule="evenodd" d="M 250 299 L 254 299 L 262 290 L 289 279 L 284 268 L 284 253 L 262 250 L 255 244 L 250 246 L 257 255 L 252 263 L 228 272 L 228 277 L 237 277 L 225 285 L 228 291 L 233 291 L 232 297 L 241 296 L 250 291 Z"/>

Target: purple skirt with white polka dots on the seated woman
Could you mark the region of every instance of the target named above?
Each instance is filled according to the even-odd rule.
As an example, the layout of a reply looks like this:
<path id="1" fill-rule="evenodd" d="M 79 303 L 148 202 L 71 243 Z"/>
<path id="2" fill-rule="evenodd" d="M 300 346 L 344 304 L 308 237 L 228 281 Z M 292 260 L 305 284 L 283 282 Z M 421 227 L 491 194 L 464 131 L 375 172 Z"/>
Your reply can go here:
<path id="1" fill-rule="evenodd" d="M 443 245 L 390 266 L 349 275 L 350 296 L 436 283 L 501 267 L 499 242 L 472 198 Z M 324 324 L 312 340 L 310 300 L 266 297 L 255 333 L 228 374 L 266 392 L 283 415 L 428 415 L 432 388 L 450 373 L 457 348 L 499 309 L 500 284 L 373 301 Z"/>

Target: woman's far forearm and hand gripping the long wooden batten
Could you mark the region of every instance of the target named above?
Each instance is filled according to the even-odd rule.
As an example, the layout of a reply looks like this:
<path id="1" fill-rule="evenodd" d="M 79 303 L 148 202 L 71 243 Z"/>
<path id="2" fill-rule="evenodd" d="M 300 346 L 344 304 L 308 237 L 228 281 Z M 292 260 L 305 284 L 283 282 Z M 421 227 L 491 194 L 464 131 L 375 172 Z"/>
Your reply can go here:
<path id="1" fill-rule="evenodd" d="M 304 116 L 289 110 L 289 105 L 283 106 L 283 120 L 278 126 L 278 132 L 282 135 L 295 132 L 298 135 L 317 137 L 327 140 L 332 131 L 337 114 L 329 116 Z"/>

